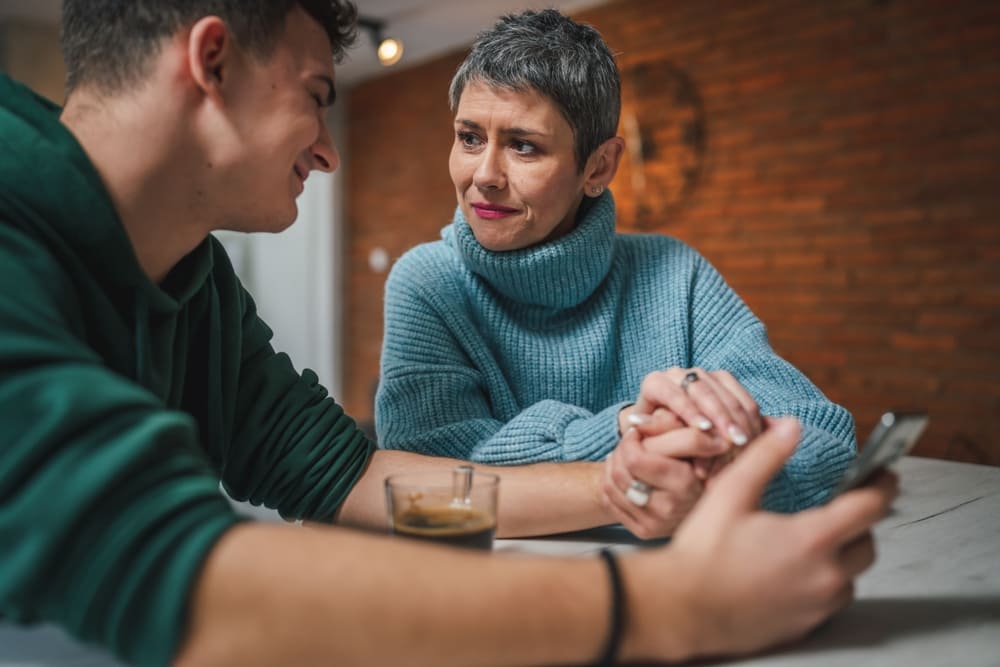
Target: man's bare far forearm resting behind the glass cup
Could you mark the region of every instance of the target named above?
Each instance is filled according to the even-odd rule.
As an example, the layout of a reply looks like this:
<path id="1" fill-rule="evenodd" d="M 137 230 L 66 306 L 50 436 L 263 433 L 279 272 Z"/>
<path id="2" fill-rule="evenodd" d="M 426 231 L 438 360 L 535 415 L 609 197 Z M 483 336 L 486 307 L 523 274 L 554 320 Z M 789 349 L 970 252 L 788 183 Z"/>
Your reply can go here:
<path id="1" fill-rule="evenodd" d="M 466 463 L 456 459 L 379 450 L 341 508 L 345 525 L 386 526 L 383 480 L 394 472 L 448 470 Z M 534 463 L 481 466 L 500 475 L 497 534 L 501 537 L 545 535 L 614 523 L 601 501 L 602 463 Z"/>

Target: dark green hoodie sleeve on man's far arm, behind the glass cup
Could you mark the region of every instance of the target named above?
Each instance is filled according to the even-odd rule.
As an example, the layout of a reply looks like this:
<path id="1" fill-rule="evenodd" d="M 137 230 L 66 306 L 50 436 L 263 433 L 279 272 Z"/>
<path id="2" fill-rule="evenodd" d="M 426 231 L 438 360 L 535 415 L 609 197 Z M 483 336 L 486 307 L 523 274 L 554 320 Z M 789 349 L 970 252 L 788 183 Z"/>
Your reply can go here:
<path id="1" fill-rule="evenodd" d="M 221 469 L 233 498 L 286 519 L 329 521 L 364 473 L 374 444 L 311 370 L 298 372 L 271 346 L 271 329 L 231 271 L 220 280 L 223 322 L 235 321 L 241 344 L 223 366 L 223 402 L 231 437 Z M 227 284 L 228 283 L 228 284 Z M 233 319 L 235 318 L 235 319 Z M 217 334 L 221 335 L 221 334 Z M 225 339 L 228 344 L 229 337 Z M 213 443 L 214 446 L 214 443 Z"/>

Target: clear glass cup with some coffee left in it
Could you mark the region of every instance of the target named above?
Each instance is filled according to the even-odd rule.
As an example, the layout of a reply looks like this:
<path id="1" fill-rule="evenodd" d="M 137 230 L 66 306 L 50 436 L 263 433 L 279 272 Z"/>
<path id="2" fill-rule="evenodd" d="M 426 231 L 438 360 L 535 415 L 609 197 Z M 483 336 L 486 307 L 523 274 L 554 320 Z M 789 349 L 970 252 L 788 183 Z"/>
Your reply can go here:
<path id="1" fill-rule="evenodd" d="M 461 465 L 385 478 L 389 532 L 471 549 L 493 548 L 500 477 Z"/>

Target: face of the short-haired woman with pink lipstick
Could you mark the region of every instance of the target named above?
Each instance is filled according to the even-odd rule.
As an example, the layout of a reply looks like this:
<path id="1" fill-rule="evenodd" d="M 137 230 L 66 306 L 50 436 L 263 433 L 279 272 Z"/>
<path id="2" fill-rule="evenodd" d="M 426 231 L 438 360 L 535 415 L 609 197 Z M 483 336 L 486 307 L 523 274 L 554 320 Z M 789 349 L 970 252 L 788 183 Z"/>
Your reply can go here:
<path id="1" fill-rule="evenodd" d="M 586 175 L 569 123 L 534 90 L 466 86 L 448 169 L 462 213 L 488 250 L 527 248 L 573 229 Z"/>

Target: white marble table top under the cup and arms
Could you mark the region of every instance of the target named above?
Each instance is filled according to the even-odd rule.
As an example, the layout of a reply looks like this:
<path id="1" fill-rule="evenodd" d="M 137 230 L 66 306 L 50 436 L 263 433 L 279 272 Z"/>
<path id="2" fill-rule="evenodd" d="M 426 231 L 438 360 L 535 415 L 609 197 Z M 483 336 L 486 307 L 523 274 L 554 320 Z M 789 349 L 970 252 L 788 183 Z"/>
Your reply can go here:
<path id="1" fill-rule="evenodd" d="M 876 529 L 879 559 L 858 599 L 804 641 L 739 667 L 1000 667 L 1000 468 L 904 459 L 902 493 Z M 499 552 L 641 548 L 620 528 L 499 540 Z M 0 624 L 0 667 L 120 667 L 51 627 Z"/>

